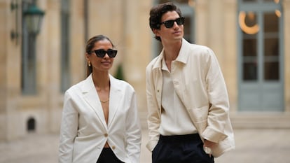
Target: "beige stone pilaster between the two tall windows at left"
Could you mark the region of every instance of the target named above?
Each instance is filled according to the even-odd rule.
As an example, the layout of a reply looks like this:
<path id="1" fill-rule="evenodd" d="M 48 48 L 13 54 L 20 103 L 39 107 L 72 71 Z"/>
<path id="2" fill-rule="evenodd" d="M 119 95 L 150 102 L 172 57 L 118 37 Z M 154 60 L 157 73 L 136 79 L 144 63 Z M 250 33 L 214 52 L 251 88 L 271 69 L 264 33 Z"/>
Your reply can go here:
<path id="1" fill-rule="evenodd" d="M 37 67 L 41 69 L 39 74 L 41 90 L 40 93 L 46 100 L 43 101 L 46 118 L 43 125 L 46 130 L 42 132 L 57 132 L 60 122 L 60 104 L 62 104 L 62 94 L 60 92 L 60 64 L 61 64 L 61 24 L 60 8 L 61 3 L 57 0 L 39 1 L 39 7 L 45 8 L 46 15 L 43 17 L 41 34 L 37 38 L 37 57 L 41 59 Z"/>

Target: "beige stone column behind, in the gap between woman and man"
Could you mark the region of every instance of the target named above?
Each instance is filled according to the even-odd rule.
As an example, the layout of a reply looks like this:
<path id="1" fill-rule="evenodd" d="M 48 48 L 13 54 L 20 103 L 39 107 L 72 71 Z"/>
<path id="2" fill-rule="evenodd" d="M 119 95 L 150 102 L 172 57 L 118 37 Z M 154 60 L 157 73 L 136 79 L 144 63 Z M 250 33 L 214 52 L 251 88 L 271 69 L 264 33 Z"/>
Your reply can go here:
<path id="1" fill-rule="evenodd" d="M 143 127 L 146 125 L 146 65 L 151 61 L 151 29 L 149 27 L 150 1 L 125 1 L 123 66 L 125 79 L 137 93 L 138 107 Z"/>

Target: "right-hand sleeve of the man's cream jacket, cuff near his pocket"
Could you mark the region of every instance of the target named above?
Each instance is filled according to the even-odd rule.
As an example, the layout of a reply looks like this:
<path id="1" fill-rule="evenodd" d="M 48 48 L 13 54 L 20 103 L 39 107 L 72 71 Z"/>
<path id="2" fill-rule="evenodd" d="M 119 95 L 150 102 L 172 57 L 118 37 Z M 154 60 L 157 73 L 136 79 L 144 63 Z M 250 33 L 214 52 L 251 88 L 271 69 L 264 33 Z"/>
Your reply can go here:
<path id="1" fill-rule="evenodd" d="M 207 94 L 209 98 L 209 113 L 207 117 L 207 128 L 202 133 L 202 137 L 219 143 L 226 139 L 226 125 L 230 125 L 229 101 L 226 83 L 221 73 L 221 68 L 212 50 L 208 50 L 207 58 Z"/>

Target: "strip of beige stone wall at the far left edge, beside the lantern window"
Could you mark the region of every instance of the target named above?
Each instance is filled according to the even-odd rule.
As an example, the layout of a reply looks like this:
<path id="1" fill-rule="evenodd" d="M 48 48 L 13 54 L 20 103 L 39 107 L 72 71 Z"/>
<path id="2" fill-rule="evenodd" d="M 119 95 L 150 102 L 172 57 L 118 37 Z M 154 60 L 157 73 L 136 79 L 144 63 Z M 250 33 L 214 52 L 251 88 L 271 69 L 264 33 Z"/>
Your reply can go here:
<path id="1" fill-rule="evenodd" d="M 18 94 L 20 87 L 20 39 L 11 39 L 20 20 L 11 10 L 9 1 L 0 1 L 0 140 L 13 139 L 17 130 Z M 18 21 L 18 22 L 16 22 Z M 8 109 L 9 108 L 9 109 Z M 10 136 L 11 135 L 11 136 Z"/>

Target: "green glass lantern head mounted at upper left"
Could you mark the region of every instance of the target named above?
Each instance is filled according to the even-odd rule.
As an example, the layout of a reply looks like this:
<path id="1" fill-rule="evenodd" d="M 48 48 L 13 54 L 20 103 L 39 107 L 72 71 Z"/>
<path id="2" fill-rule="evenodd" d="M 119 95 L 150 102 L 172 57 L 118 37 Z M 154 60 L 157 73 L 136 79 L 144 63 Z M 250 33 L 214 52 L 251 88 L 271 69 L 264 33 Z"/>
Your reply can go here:
<path id="1" fill-rule="evenodd" d="M 32 3 L 27 10 L 23 11 L 24 21 L 27 25 L 27 31 L 29 34 L 33 34 L 35 36 L 39 34 L 43 15 L 44 11 L 39 9 L 35 3 Z"/>

